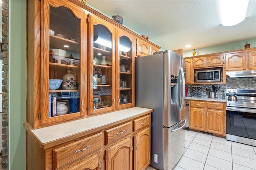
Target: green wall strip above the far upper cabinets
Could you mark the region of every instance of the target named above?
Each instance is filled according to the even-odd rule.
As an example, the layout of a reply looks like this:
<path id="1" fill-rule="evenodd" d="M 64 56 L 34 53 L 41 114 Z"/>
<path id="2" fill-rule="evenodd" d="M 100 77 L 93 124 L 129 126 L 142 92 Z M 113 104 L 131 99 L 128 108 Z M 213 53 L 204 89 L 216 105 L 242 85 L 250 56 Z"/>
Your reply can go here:
<path id="1" fill-rule="evenodd" d="M 254 38 L 254 39 L 246 39 L 246 40 L 232 42 L 232 43 L 226 43 L 222 45 L 205 47 L 201 49 L 195 49 L 195 51 L 196 51 L 196 55 L 204 55 L 204 54 L 212 54 L 212 53 L 219 53 L 224 51 L 244 49 L 244 45 L 246 41 L 249 42 L 251 48 L 256 47 L 256 38 Z M 193 56 L 192 52 L 193 50 L 183 51 L 183 57 L 192 57 Z"/>

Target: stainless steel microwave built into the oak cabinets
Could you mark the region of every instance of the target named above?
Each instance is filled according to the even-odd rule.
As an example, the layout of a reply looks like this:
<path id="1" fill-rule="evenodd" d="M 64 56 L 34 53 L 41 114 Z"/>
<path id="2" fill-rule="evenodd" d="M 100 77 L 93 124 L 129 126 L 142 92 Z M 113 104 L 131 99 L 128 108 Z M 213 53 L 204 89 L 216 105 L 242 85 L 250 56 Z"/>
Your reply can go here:
<path id="1" fill-rule="evenodd" d="M 196 71 L 196 82 L 220 82 L 220 69 Z"/>

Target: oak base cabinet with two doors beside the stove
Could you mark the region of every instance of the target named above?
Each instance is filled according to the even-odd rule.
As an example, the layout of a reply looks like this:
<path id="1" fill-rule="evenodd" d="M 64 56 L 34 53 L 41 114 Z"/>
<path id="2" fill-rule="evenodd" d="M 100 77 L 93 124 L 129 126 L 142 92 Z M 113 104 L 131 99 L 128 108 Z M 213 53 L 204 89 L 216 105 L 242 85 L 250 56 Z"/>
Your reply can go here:
<path id="1" fill-rule="evenodd" d="M 190 100 L 189 128 L 226 136 L 226 103 Z"/>

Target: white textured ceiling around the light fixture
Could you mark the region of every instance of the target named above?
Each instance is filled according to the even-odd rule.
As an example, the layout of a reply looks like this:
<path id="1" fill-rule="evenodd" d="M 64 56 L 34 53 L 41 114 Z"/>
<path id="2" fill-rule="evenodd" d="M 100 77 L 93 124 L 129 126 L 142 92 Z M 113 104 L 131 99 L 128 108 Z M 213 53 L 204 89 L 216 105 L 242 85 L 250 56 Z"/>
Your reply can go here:
<path id="1" fill-rule="evenodd" d="M 256 0 L 250 0 L 246 19 L 221 25 L 218 0 L 87 0 L 107 16 L 120 15 L 123 25 L 164 49 L 198 49 L 256 38 Z M 250 42 L 249 42 L 250 43 Z M 192 47 L 185 48 L 191 44 Z"/>

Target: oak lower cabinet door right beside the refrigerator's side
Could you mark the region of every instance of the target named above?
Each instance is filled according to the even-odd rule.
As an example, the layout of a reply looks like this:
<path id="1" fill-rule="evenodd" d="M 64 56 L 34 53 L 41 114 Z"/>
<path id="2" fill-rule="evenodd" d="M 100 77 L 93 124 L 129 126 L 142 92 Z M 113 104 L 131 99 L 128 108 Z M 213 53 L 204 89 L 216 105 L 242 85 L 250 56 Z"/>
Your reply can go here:
<path id="1" fill-rule="evenodd" d="M 144 170 L 150 164 L 150 127 L 134 135 L 134 170 Z"/>

